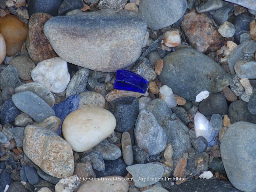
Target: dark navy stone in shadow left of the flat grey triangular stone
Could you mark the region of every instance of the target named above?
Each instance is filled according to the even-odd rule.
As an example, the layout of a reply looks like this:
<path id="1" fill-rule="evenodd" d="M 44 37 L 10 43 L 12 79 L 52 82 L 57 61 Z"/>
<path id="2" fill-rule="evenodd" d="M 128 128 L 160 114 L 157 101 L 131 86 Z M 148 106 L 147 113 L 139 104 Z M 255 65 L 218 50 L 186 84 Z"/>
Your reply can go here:
<path id="1" fill-rule="evenodd" d="M 110 176 L 110 175 L 120 175 L 124 177 L 127 174 L 126 164 L 124 163 L 124 160 L 122 157 L 112 161 L 104 160 L 104 162 L 105 162 L 104 172 L 94 170 L 97 178 Z"/>

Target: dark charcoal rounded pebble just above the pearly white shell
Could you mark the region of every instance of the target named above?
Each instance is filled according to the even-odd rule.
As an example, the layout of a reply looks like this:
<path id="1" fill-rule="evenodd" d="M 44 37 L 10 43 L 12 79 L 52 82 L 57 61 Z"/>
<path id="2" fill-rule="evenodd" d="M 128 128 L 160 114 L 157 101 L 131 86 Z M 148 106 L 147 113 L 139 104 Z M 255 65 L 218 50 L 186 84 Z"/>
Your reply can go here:
<path id="1" fill-rule="evenodd" d="M 227 100 L 223 94 L 213 93 L 199 104 L 198 110 L 205 116 L 225 115 L 228 112 Z"/>

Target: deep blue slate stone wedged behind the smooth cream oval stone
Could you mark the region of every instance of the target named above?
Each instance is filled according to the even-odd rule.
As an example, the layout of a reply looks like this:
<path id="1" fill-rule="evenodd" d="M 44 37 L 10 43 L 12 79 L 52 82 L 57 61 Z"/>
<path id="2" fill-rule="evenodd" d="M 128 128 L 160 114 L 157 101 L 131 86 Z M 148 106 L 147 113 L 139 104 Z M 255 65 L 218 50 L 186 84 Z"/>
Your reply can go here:
<path id="1" fill-rule="evenodd" d="M 61 133 L 61 127 L 64 119 L 68 116 L 69 113 L 75 111 L 78 108 L 79 104 L 79 95 L 71 95 L 65 101 L 54 105 L 52 109 L 54 110 L 56 117 L 61 119 L 60 126 L 56 132 L 58 135 Z"/>

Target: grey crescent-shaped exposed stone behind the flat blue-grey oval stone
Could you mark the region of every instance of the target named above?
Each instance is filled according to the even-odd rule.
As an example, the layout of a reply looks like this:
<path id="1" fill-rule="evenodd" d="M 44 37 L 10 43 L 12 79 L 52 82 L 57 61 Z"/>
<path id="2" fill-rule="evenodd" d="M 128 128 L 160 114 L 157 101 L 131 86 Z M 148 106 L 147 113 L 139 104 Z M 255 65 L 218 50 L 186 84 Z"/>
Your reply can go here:
<path id="1" fill-rule="evenodd" d="M 54 105 L 54 102 L 55 102 L 54 95 L 50 91 L 48 91 L 42 84 L 39 84 L 36 82 L 26 83 L 26 84 L 20 85 L 19 87 L 16 87 L 14 90 L 15 90 L 15 93 L 24 92 L 24 91 L 33 92 L 42 100 L 44 100 L 50 107 L 53 107 Z"/>

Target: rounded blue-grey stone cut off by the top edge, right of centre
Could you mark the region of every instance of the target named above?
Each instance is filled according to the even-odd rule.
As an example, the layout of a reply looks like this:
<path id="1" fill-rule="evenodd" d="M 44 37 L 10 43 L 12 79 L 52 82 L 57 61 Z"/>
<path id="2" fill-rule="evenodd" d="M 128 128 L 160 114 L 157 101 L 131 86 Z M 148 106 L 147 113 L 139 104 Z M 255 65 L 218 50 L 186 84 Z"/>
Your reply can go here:
<path id="1" fill-rule="evenodd" d="M 178 21 L 186 9 L 185 0 L 172 2 L 164 0 L 157 4 L 153 0 L 141 0 L 138 13 L 146 20 L 148 28 L 158 30 Z"/>

